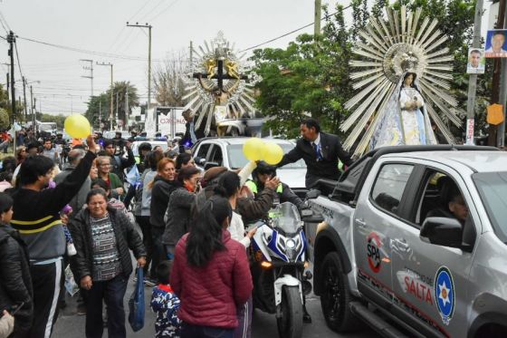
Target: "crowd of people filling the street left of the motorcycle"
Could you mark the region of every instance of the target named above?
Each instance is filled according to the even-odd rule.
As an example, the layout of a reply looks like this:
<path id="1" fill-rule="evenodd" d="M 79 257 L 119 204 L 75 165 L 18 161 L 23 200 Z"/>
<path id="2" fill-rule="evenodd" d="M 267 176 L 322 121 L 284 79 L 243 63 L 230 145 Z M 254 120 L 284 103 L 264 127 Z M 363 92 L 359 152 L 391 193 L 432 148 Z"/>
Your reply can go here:
<path id="1" fill-rule="evenodd" d="M 249 336 L 245 248 L 255 230 L 245 233 L 244 222 L 272 207 L 281 185 L 274 169 L 253 193 L 237 172 L 203 172 L 186 151 L 144 142 L 136 162 L 129 140 L 90 136 L 62 159 L 55 140 L 23 144 L 2 161 L 0 337 L 51 336 L 68 266 L 80 287 L 85 335 L 100 337 L 107 327 L 111 337 L 126 336 L 123 303 L 134 264 L 153 286 L 158 337 Z M 128 185 L 133 166 L 139 179 Z"/>

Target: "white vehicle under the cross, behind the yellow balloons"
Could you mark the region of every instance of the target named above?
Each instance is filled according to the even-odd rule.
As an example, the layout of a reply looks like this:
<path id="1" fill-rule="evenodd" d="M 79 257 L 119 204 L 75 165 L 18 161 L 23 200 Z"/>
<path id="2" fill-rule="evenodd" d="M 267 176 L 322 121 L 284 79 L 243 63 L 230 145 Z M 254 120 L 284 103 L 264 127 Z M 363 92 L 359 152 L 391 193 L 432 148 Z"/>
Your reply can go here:
<path id="1" fill-rule="evenodd" d="M 248 163 L 244 157 L 243 146 L 246 137 L 234 138 L 206 138 L 198 140 L 192 148 L 192 156 L 196 165 L 202 169 L 224 166 L 229 169 L 240 169 Z M 282 147 L 284 153 L 296 146 L 292 140 L 263 139 L 265 142 L 274 142 Z M 289 185 L 296 194 L 303 197 L 307 191 L 304 185 L 306 164 L 302 159 L 277 169 L 277 175 L 283 183 Z"/>

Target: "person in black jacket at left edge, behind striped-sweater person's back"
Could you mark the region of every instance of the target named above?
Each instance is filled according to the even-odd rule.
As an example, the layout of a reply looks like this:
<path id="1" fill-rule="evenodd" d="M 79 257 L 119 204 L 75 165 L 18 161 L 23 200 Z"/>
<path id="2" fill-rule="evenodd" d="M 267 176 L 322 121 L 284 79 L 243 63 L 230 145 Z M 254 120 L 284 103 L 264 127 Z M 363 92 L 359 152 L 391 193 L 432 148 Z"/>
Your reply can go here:
<path id="1" fill-rule="evenodd" d="M 0 311 L 13 312 L 14 337 L 28 336 L 33 321 L 32 278 L 28 251 L 17 231 L 10 226 L 13 198 L 0 193 Z"/>

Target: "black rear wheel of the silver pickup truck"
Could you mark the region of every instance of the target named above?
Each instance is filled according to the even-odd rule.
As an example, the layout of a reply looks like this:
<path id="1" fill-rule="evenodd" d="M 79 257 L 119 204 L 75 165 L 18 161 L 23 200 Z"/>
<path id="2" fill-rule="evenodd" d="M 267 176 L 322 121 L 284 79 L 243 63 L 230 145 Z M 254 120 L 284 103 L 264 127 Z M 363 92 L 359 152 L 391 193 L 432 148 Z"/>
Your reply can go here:
<path id="1" fill-rule="evenodd" d="M 324 257 L 320 269 L 320 280 L 323 284 L 320 305 L 326 323 L 336 332 L 352 331 L 358 326 L 358 319 L 350 311 L 349 280 L 343 273 L 340 256 L 330 252 Z"/>

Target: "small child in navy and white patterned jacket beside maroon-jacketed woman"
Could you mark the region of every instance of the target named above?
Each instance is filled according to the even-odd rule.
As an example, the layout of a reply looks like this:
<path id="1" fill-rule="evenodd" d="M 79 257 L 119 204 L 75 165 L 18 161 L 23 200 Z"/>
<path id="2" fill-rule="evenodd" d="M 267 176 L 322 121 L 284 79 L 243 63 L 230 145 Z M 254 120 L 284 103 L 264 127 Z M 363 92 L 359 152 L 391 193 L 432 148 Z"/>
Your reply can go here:
<path id="1" fill-rule="evenodd" d="M 155 322 L 156 337 L 179 337 L 181 321 L 177 318 L 179 298 L 169 285 L 172 262 L 164 261 L 157 266 L 158 286 L 153 288 L 151 309 L 157 314 Z"/>

